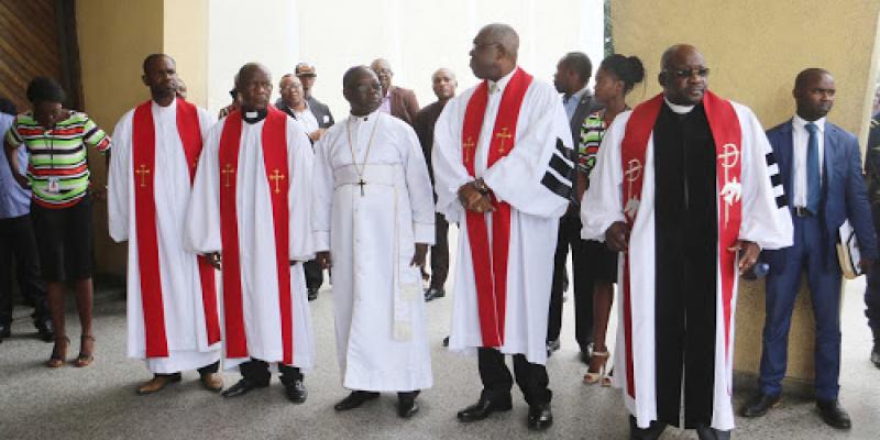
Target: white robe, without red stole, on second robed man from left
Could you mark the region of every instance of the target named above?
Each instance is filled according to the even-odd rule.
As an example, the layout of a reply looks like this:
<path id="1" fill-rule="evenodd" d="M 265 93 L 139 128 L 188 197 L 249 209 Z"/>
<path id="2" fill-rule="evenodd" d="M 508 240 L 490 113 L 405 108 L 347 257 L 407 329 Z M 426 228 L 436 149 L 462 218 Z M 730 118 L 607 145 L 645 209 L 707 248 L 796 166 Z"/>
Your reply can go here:
<path id="1" fill-rule="evenodd" d="M 290 267 L 293 366 L 308 370 L 315 359 L 315 343 L 301 262 L 315 257 L 315 242 L 309 227 L 314 166 L 311 144 L 302 124 L 293 118 L 287 118 L 287 170 L 282 183 L 289 182 L 290 185 L 287 226 L 289 242 L 276 243 L 271 201 L 273 187 L 267 180 L 262 146 L 263 125 L 266 119 L 253 124 L 242 122 L 238 170 L 234 177 L 232 174 L 221 175 L 219 164 L 220 139 L 223 125 L 228 121 L 229 117 L 223 118 L 208 134 L 196 174 L 185 235 L 186 245 L 194 252 L 221 251 L 220 186 L 226 184 L 227 178 L 234 178 L 242 314 L 248 353 L 246 356 L 231 358 L 227 346 L 224 367 L 230 369 L 249 361 L 250 358 L 265 362 L 283 362 L 285 346 L 282 338 L 275 249 L 288 246 L 289 260 L 298 262 Z M 220 284 L 218 286 L 221 287 Z M 224 308 L 228 307 L 222 301 L 221 304 Z M 224 328 L 226 331 L 228 328 Z"/>

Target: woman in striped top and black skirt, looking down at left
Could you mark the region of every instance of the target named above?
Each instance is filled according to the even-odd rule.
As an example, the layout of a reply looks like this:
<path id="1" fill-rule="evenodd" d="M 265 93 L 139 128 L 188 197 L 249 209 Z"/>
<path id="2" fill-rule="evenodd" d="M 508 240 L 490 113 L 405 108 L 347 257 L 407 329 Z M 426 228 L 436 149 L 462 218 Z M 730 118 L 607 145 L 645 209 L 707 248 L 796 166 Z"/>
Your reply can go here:
<path id="1" fill-rule="evenodd" d="M 74 364 L 86 366 L 91 363 L 95 349 L 91 333 L 95 257 L 86 145 L 109 154 L 110 138 L 85 113 L 62 108 L 65 92 L 53 79 L 34 78 L 28 86 L 28 99 L 33 111 L 15 118 L 6 144 L 13 177 L 32 190 L 31 217 L 55 326 L 55 346 L 46 366 L 64 365 L 70 343 L 64 322 L 65 280 L 76 284 L 82 328 L 79 356 Z M 21 146 L 29 153 L 26 177 L 16 172 L 14 153 Z"/>

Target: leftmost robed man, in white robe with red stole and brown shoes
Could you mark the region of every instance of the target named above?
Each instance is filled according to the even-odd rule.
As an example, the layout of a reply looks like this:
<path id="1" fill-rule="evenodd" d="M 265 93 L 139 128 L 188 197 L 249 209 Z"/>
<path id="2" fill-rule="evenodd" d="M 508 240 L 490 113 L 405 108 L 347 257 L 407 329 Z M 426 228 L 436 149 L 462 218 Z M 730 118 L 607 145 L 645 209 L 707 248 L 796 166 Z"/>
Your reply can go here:
<path id="1" fill-rule="evenodd" d="M 196 163 L 213 120 L 176 98 L 170 56 L 150 55 L 143 69 L 152 99 L 117 124 L 119 153 L 108 180 L 110 237 L 129 242 L 129 356 L 146 361 L 154 374 L 140 394 L 180 381 L 184 370 L 198 370 L 206 388 L 220 391 L 216 271 L 183 245 Z"/>

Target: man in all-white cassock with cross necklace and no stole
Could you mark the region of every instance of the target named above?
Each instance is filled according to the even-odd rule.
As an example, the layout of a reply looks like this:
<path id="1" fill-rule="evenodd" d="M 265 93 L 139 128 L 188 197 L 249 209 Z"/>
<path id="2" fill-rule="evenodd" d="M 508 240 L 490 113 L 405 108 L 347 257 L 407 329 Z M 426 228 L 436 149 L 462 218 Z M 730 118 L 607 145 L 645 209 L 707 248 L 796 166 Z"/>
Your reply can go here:
<path id="1" fill-rule="evenodd" d="M 312 227 L 318 262 L 332 264 L 342 411 L 397 392 L 409 418 L 430 388 L 419 267 L 435 241 L 433 198 L 416 132 L 378 111 L 382 88 L 366 66 L 349 69 L 351 114 L 315 144 Z"/>

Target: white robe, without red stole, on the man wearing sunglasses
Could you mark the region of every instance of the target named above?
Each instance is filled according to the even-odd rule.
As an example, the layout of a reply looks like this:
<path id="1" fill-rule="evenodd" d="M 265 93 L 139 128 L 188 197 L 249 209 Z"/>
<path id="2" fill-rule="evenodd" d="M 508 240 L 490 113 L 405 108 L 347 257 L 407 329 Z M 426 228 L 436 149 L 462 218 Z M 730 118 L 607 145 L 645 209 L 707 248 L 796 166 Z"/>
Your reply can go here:
<path id="1" fill-rule="evenodd" d="M 760 122 L 747 107 L 730 102 L 739 120 L 741 129 L 741 223 L 739 239 L 757 243 L 761 249 L 780 249 L 792 243 L 792 226 L 788 208 L 784 207 L 784 194 L 781 179 L 779 185 L 771 180 L 779 174 L 772 151 Z M 678 112 L 681 112 L 679 110 Z M 605 133 L 598 150 L 596 166 L 590 176 L 590 188 L 584 194 L 581 220 L 583 229 L 581 238 L 585 240 L 605 241 L 605 231 L 616 221 L 626 221 L 624 216 L 623 191 L 624 169 L 622 165 L 622 142 L 627 132 L 627 123 L 632 111 L 620 113 L 615 118 Z M 653 122 L 651 122 L 653 123 Z M 653 134 L 648 140 L 645 155 L 644 186 L 638 205 L 637 216 L 629 238 L 630 295 L 631 295 L 631 350 L 632 359 L 627 360 L 627 339 L 625 334 L 625 308 L 623 289 L 618 289 L 619 322 L 617 343 L 615 345 L 615 369 L 613 384 L 624 388 L 624 400 L 640 428 L 647 428 L 651 420 L 658 419 L 657 408 L 657 366 L 654 339 L 654 299 L 656 299 L 656 234 L 654 234 L 654 144 Z M 716 189 L 721 190 L 719 188 Z M 718 216 L 724 215 L 724 207 L 718 207 Z M 721 218 L 721 217 L 719 217 Z M 673 256 L 670 256 L 673 257 Z M 624 282 L 624 258 L 618 263 L 618 286 Z M 735 261 L 738 261 L 735 260 Z M 716 264 L 716 267 L 719 267 Z M 718 268 L 721 274 L 721 268 Z M 733 348 L 737 279 L 734 278 L 729 329 L 723 322 L 724 310 L 721 299 L 721 279 L 718 279 L 718 300 L 716 302 L 715 326 L 715 373 L 713 388 L 712 428 L 730 430 L 734 428 L 734 411 L 730 393 L 733 389 Z M 729 331 L 729 345 L 725 344 L 725 332 Z M 627 392 L 627 362 L 632 363 L 632 386 L 635 398 Z"/>

